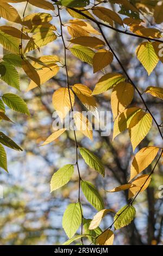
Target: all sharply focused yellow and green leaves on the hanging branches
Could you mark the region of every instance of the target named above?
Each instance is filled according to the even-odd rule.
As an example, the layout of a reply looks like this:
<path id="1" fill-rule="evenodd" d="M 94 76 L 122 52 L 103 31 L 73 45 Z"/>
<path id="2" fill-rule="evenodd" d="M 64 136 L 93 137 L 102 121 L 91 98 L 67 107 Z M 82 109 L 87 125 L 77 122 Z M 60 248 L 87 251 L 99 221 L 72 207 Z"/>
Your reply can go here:
<path id="1" fill-rule="evenodd" d="M 30 51 L 39 50 L 40 47 L 46 46 L 49 42 L 56 40 L 59 35 L 58 33 L 55 33 L 57 28 L 50 23 L 53 17 L 49 13 L 33 13 L 25 16 L 27 8 L 26 5 L 21 19 L 17 10 L 9 4 L 20 2 L 26 2 L 27 5 L 32 4 L 35 7 L 45 10 L 51 10 L 53 13 L 55 10 L 53 3 L 55 3 L 58 10 L 57 16 L 60 18 L 61 28 L 67 27 L 67 32 L 71 36 L 70 40 L 68 40 L 70 45 L 66 47 L 61 29 L 60 33 L 64 42 L 65 52 L 68 48 L 75 57 L 92 65 L 94 73 L 98 71 L 104 72 L 104 75 L 99 79 L 93 91 L 84 84 L 74 84 L 73 86 L 70 86 L 67 82 L 66 88 L 59 88 L 54 92 L 52 100 L 53 106 L 60 119 L 64 121 L 67 113 L 70 111 L 73 112 L 73 106 L 76 99 L 75 95 L 86 109 L 91 111 L 92 114 L 95 115 L 95 118 L 98 119 L 97 102 L 94 95 L 102 94 L 112 89 L 111 108 L 114 117 L 113 137 L 115 138 L 121 132 L 128 129 L 134 151 L 137 145 L 139 145 L 147 136 L 151 129 L 152 121 L 154 120 L 156 123 L 156 120 L 147 108 L 139 89 L 137 89 L 124 69 L 124 74 L 105 74 L 104 68 L 113 62 L 114 57 L 116 60 L 118 60 L 118 58 L 115 52 L 112 51 L 101 26 L 103 25 L 114 30 L 116 30 L 114 27 L 115 24 L 122 28 L 126 26 L 130 29 L 131 33 L 124 30 L 118 30 L 117 32 L 128 33 L 132 36 L 138 36 L 146 39 L 146 41 L 143 41 L 139 46 L 137 46 L 136 56 L 147 70 L 148 75 L 150 75 L 159 60 L 163 62 L 163 58 L 160 54 L 161 31 L 159 28 L 147 28 L 143 26 L 143 20 L 140 18 L 140 13 L 153 14 L 155 23 L 160 24 L 163 21 L 161 15 L 163 4 L 160 5 L 158 1 L 154 1 L 155 3 L 151 3 L 153 1 L 148 1 L 143 4 L 141 1 L 136 1 L 136 3 L 135 1 L 128 2 L 127 0 L 109 1 L 110 3 L 120 5 L 121 10 L 117 13 L 116 11 L 100 5 L 105 2 L 102 0 L 95 1 L 97 3 L 93 5 L 90 4 L 90 1 L 80 0 L 52 1 L 53 3 L 46 0 L 2 0 L 0 3 L 0 16 L 9 22 L 17 23 L 17 25 L 20 26 L 20 29 L 13 26 L 0 27 L 0 43 L 9 51 L 9 53 L 5 54 L 1 59 L 1 79 L 9 86 L 20 90 L 18 72 L 15 66 L 22 68 L 31 80 L 27 91 L 34 89 L 35 87 L 41 87 L 41 84 L 57 75 L 59 71 L 60 57 L 53 55 L 35 58 L 33 57 L 33 54 L 32 56 L 29 56 L 28 54 Z M 85 7 L 87 7 L 87 5 L 89 5 L 90 8 L 86 9 Z M 60 16 L 60 9 L 62 8 L 64 8 L 74 19 L 63 24 Z M 125 16 L 123 17 L 124 19 L 120 14 Z M 85 20 L 94 22 L 98 26 L 98 29 L 93 28 L 90 23 Z M 23 47 L 24 42 L 27 42 L 25 47 Z M 119 60 L 118 62 L 121 64 Z M 65 67 L 67 70 L 66 54 L 65 65 L 63 68 Z M 123 68 L 122 65 L 121 67 Z M 139 106 L 130 107 L 135 90 L 141 96 L 143 103 L 145 103 L 146 111 Z M 163 99 L 162 88 L 149 86 L 144 93 L 149 93 L 154 97 Z M 11 120 L 5 114 L 4 103 L 14 111 L 29 114 L 27 105 L 20 96 L 7 93 L 2 95 L 2 100 L 0 101 L 0 118 L 5 121 Z M 83 133 L 84 136 L 90 139 L 93 138 L 92 124 L 81 112 L 73 112 L 73 121 L 74 125 Z M 159 128 L 157 123 L 156 125 Z M 54 142 L 55 139 L 61 136 L 65 131 L 66 129 L 55 131 L 42 145 Z M 76 137 L 75 131 L 74 135 Z M 0 135 L 0 143 L 13 149 L 21 150 L 15 142 L 5 136 L 2 132 Z M 2 144 L 0 144 L 0 166 L 7 170 L 7 157 Z M 79 153 L 83 157 L 85 163 L 104 177 L 105 170 L 101 160 L 99 160 L 98 157 L 90 150 L 86 148 L 79 148 L 77 142 L 76 149 L 77 155 L 79 150 Z M 136 179 L 135 177 L 146 169 L 152 161 L 154 161 L 159 150 L 160 148 L 151 146 L 143 148 L 136 153 L 133 162 L 131 163 L 130 179 L 128 184 L 124 184 L 108 191 L 117 192 L 121 190 L 128 190 L 129 199 L 133 198 L 129 205 L 123 206 L 123 208 L 115 214 L 114 222 L 112 223 L 112 225 L 114 224 L 115 229 L 120 229 L 128 225 L 134 219 L 135 208 L 132 205 L 134 197 L 140 192 L 146 190 L 149 182 L 151 181 L 152 173 L 143 174 L 138 176 Z M 54 173 L 51 180 L 51 191 L 57 190 L 70 181 L 74 172 L 74 166 L 78 167 L 78 156 L 76 164 L 66 164 Z M 85 219 L 83 217 L 84 214 L 80 197 L 78 198 L 77 203 L 68 205 L 62 220 L 63 228 L 70 239 L 65 242 L 65 245 L 68 245 L 77 239 L 81 239 L 81 241 L 83 241 L 82 239 L 84 236 L 91 242 L 98 245 L 112 245 L 114 241 L 114 233 L 111 230 L 112 225 L 105 231 L 102 231 L 98 226 L 101 223 L 102 218 L 107 213 L 114 211 L 112 209 L 104 209 L 105 206 L 101 194 L 93 184 L 89 181 L 83 180 L 79 172 L 79 190 L 80 186 L 85 198 L 98 211 L 98 213 L 92 220 Z M 82 227 L 84 226 L 84 234 L 74 236 L 80 225 L 82 225 Z"/>

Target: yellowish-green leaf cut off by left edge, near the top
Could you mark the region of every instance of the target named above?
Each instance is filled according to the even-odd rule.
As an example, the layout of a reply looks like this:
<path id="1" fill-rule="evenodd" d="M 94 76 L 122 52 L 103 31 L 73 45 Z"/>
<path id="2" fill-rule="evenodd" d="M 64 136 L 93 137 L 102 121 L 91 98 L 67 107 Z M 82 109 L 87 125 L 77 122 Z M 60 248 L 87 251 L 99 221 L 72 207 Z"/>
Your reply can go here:
<path id="1" fill-rule="evenodd" d="M 10 52 L 19 54 L 19 45 L 21 40 L 14 38 L 14 36 L 8 35 L 0 30 L 0 44 Z"/>

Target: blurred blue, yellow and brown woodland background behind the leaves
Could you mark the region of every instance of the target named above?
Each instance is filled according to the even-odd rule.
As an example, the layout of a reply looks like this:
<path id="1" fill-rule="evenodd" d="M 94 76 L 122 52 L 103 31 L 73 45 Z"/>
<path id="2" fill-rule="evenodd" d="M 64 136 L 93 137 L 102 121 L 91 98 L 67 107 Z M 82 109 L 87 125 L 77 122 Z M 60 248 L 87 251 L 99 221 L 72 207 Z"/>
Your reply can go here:
<path id="1" fill-rule="evenodd" d="M 25 4 L 14 4 L 21 15 Z M 115 7 L 112 6 L 111 8 Z M 29 4 L 26 15 L 32 12 L 43 12 L 43 10 Z M 51 14 L 55 15 L 54 13 Z M 61 10 L 61 16 L 63 22 L 72 19 L 65 13 L 65 10 Z M 150 19 L 149 17 L 149 21 L 146 20 L 146 26 L 151 26 L 152 20 Z M 0 22 L 3 25 L 5 21 L 1 18 Z M 59 28 L 58 17 L 53 17 L 52 23 Z M 7 24 L 11 25 L 10 22 Z M 147 86 L 162 86 L 162 63 L 159 63 L 153 74 L 148 77 L 147 72 L 136 59 L 135 48 L 142 40 L 118 34 L 109 29 L 105 29 L 105 35 L 141 92 Z M 64 36 L 66 40 L 70 39 L 66 27 Z M 64 63 L 63 49 L 61 40 L 57 39 L 46 47 L 40 48 L 40 52 L 35 51 L 31 54 L 34 57 L 40 57 L 43 54 L 56 54 L 61 57 L 62 63 Z M 1 52 L 3 53 L 2 48 Z M 80 62 L 70 52 L 67 53 L 67 64 L 72 85 L 83 83 L 93 89 L 99 77 L 103 75 L 102 72 L 93 74 L 90 65 Z M 26 90 L 29 79 L 21 69 L 18 71 L 21 75 L 21 93 L 18 94 L 27 101 L 31 116 L 27 117 L 8 109 L 7 114 L 15 124 L 1 122 L 1 130 L 20 144 L 23 151 L 7 149 L 9 173 L 5 173 L 4 170 L 1 170 L 0 173 L 0 185 L 4 189 L 4 198 L 0 199 L 0 245 L 58 245 L 67 240 L 61 221 L 66 206 L 70 202 L 77 201 L 78 174 L 75 172 L 72 180 L 66 186 L 53 193 L 50 193 L 49 181 L 53 173 L 61 166 L 75 162 L 73 133 L 68 131 L 55 143 L 45 147 L 39 147 L 39 145 L 53 132 L 52 95 L 56 89 L 66 87 L 65 70 L 61 68 L 57 76 L 43 84 L 41 90 L 35 88 L 28 93 Z M 115 60 L 111 66 L 105 69 L 105 72 L 114 71 L 121 72 L 120 66 Z M 14 88 L 7 86 L 3 81 L 0 83 L 1 93 L 17 93 Z M 161 100 L 149 95 L 144 97 L 158 123 L 161 123 L 163 116 Z M 98 95 L 96 98 L 99 111 L 110 111 L 110 91 Z M 135 94 L 131 106 L 143 108 L 137 94 Z M 84 110 L 78 99 L 76 99 L 75 108 Z M 112 127 L 112 121 L 110 125 Z M 94 131 L 93 141 L 83 137 L 81 133 L 77 134 L 79 144 L 92 150 L 102 159 L 106 172 L 105 179 L 103 179 L 86 166 L 82 159 L 79 159 L 83 179 L 96 185 L 104 197 L 106 208 L 119 210 L 128 203 L 127 193 L 105 193 L 104 190 L 126 184 L 128 180 L 130 162 L 133 157 L 128 132 L 123 132 L 114 142 L 112 142 L 112 131 L 111 135 L 107 137 L 101 137 L 98 131 Z M 147 145 L 161 147 L 161 143 L 158 131 L 153 125 L 139 147 L 147 147 Z M 152 166 L 145 173 L 149 173 Z M 116 231 L 115 245 L 162 244 L 163 206 L 162 199 L 159 198 L 159 186 L 163 185 L 162 172 L 160 162 L 152 176 L 151 185 L 135 200 L 134 206 L 137 213 L 134 222 L 128 227 Z M 96 210 L 86 201 L 83 194 L 82 203 L 85 217 L 92 218 L 96 214 Z M 107 228 L 113 217 L 114 215 L 106 216 L 101 227 Z"/>

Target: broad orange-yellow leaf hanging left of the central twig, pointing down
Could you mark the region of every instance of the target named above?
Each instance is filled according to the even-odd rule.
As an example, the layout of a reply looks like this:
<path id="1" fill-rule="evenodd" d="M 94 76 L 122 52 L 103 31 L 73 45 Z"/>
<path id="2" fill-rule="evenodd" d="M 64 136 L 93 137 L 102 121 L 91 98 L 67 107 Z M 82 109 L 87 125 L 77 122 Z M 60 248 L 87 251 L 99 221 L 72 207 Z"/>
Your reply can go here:
<path id="1" fill-rule="evenodd" d="M 71 97 L 71 101 L 70 101 L 70 97 Z M 68 88 L 59 88 L 53 94 L 53 106 L 57 111 L 61 120 L 63 120 L 66 117 L 67 113 L 70 111 L 71 103 L 73 107 L 74 94 L 72 90 L 70 90 L 70 95 L 69 95 Z"/>

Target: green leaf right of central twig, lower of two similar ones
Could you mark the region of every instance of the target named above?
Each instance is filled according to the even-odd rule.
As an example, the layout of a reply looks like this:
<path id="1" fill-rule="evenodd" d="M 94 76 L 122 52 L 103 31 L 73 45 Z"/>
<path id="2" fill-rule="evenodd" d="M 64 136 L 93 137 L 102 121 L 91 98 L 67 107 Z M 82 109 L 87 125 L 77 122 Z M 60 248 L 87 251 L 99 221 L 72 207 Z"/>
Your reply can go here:
<path id="1" fill-rule="evenodd" d="M 93 186 L 90 182 L 84 180 L 81 181 L 81 186 L 84 196 L 90 202 L 90 204 L 93 205 L 97 211 L 104 209 L 103 199 L 96 190 L 96 187 Z"/>

